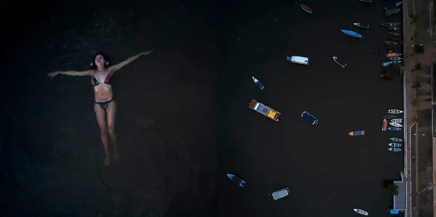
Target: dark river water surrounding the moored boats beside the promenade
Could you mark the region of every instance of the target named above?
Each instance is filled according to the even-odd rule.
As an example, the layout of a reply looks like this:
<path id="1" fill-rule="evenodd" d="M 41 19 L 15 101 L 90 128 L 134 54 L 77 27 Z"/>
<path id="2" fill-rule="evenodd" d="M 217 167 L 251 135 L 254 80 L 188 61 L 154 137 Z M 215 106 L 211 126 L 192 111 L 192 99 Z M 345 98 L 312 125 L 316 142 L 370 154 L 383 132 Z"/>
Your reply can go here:
<path id="1" fill-rule="evenodd" d="M 386 216 L 392 196 L 382 179 L 399 179 L 404 170 L 403 151 L 387 151 L 389 138 L 402 138 L 403 132 L 381 131 L 387 109 L 403 110 L 402 78 L 378 77 L 387 62 L 388 36 L 380 24 L 402 19 L 401 13 L 384 16 L 387 2 L 302 2 L 313 14 L 293 1 L 230 4 L 222 25 L 226 49 L 219 83 L 220 216 L 357 216 L 356 208 Z M 381 52 L 370 54 L 376 48 Z M 286 61 L 291 55 L 308 57 L 310 65 Z M 280 111 L 282 119 L 250 110 L 252 99 Z M 303 111 L 319 125 L 305 122 Z M 353 130 L 366 135 L 349 136 Z M 227 173 L 240 175 L 246 187 L 234 186 Z M 273 200 L 269 194 L 282 186 L 291 187 L 291 194 Z"/>

